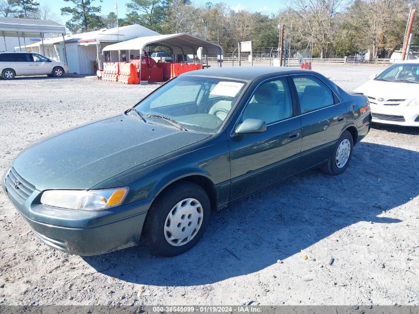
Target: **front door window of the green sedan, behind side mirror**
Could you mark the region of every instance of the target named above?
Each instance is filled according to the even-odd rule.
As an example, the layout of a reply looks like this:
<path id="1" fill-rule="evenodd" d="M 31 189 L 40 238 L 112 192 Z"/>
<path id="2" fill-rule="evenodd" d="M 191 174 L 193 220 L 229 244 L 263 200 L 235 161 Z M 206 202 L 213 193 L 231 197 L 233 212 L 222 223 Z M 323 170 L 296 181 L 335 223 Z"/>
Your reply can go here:
<path id="1" fill-rule="evenodd" d="M 266 124 L 292 117 L 293 103 L 286 78 L 260 85 L 242 115 L 246 119 L 260 119 Z"/>

